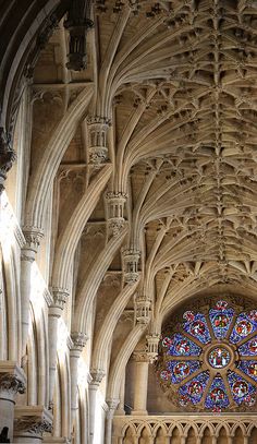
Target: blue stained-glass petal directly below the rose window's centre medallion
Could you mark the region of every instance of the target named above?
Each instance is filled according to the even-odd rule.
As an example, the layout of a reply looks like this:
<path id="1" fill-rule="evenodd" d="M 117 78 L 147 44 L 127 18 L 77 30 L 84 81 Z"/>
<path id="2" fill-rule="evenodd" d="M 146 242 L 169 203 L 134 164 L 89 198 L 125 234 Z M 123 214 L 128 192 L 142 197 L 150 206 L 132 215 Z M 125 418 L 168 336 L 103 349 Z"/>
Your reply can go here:
<path id="1" fill-rule="evenodd" d="M 230 405 L 229 396 L 224 382 L 221 376 L 216 376 L 211 383 L 208 395 L 205 400 L 205 407 L 208 409 L 228 408 Z"/>

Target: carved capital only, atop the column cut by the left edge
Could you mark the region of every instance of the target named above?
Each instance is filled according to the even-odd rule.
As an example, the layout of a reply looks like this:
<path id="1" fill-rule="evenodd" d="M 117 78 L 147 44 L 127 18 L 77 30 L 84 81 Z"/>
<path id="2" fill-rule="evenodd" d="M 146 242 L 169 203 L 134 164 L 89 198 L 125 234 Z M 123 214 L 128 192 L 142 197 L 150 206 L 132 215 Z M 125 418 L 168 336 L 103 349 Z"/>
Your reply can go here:
<path id="1" fill-rule="evenodd" d="M 12 361 L 0 361 L 0 394 L 4 392 L 11 399 L 26 388 L 26 376 L 23 370 Z M 1 396 L 1 395 L 0 395 Z"/>

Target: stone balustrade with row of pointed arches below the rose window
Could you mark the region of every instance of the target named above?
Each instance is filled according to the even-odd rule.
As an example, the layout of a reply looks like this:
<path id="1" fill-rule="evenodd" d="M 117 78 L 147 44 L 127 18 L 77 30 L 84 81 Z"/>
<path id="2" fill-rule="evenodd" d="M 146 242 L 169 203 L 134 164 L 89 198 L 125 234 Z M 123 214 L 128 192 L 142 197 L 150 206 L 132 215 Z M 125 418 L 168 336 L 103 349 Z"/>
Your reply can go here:
<path id="1" fill-rule="evenodd" d="M 255 444 L 256 413 L 114 416 L 112 444 Z"/>

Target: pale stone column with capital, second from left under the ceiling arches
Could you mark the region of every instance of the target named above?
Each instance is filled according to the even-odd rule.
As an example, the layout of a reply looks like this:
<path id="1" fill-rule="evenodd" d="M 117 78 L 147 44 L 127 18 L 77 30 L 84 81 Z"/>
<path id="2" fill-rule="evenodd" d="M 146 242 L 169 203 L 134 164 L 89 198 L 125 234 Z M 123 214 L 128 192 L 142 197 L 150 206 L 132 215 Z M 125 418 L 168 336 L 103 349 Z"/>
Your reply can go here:
<path id="1" fill-rule="evenodd" d="M 52 288 L 53 303 L 48 312 L 48 338 L 49 338 L 49 408 L 53 405 L 53 391 L 57 370 L 57 341 L 58 320 L 68 299 L 68 292 L 61 288 Z"/>

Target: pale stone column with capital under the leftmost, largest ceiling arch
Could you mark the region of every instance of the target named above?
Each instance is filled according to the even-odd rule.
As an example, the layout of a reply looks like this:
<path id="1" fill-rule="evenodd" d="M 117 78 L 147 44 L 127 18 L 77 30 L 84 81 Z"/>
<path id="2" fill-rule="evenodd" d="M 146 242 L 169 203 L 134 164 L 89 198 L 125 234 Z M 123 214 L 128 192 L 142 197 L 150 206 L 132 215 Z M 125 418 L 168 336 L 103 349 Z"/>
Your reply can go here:
<path id="1" fill-rule="evenodd" d="M 26 355 L 26 345 L 29 326 L 29 301 L 32 266 L 36 257 L 42 232 L 39 228 L 25 227 L 23 233 L 26 239 L 25 247 L 22 248 L 21 255 L 21 307 L 22 307 L 22 357 Z"/>

